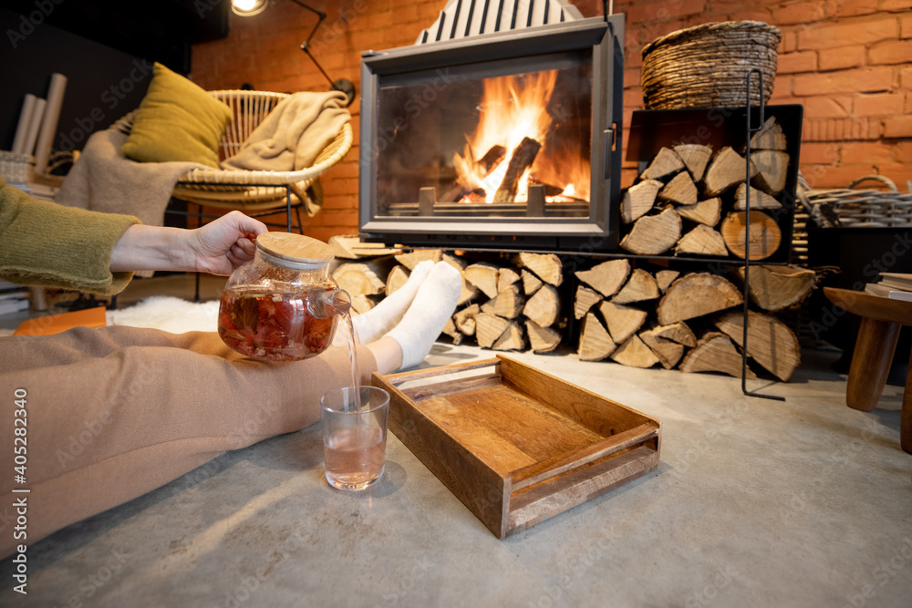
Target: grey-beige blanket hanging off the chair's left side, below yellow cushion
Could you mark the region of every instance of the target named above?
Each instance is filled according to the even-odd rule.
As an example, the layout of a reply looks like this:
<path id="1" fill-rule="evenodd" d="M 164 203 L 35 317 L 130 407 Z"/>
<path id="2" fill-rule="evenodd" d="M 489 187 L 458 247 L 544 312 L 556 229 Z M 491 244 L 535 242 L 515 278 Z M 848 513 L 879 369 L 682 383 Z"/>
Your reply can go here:
<path id="1" fill-rule="evenodd" d="M 120 147 L 127 136 L 114 129 L 93 133 L 54 201 L 90 211 L 126 213 L 142 223 L 161 226 L 171 191 L 195 162 L 137 162 Z"/>

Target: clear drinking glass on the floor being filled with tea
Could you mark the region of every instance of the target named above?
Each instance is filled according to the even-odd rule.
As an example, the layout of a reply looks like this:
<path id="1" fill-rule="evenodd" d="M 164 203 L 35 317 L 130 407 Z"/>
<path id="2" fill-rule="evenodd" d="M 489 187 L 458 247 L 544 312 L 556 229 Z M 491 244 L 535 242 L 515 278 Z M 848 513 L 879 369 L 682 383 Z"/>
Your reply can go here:
<path id="1" fill-rule="evenodd" d="M 320 399 L 326 480 L 338 489 L 365 489 L 383 475 L 389 393 L 344 386 Z"/>

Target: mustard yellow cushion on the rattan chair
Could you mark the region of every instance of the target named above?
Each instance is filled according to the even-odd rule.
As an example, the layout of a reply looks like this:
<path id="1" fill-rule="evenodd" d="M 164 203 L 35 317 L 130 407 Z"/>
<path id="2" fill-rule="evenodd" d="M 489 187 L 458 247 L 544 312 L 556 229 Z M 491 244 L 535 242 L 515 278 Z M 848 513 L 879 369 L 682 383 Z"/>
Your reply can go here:
<path id="1" fill-rule="evenodd" d="M 187 160 L 218 168 L 231 110 L 180 74 L 156 63 L 130 137 L 120 149 L 140 162 Z"/>

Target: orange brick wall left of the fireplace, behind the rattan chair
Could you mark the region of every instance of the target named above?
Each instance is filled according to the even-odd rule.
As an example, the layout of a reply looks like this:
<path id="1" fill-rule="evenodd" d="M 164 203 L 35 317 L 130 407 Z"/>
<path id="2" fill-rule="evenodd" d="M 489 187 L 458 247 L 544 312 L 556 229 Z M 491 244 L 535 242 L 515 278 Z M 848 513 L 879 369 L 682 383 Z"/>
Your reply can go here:
<path id="1" fill-rule="evenodd" d="M 355 145 L 321 181 L 322 211 L 304 218 L 305 233 L 326 241 L 335 234 L 358 232 L 358 128 L 361 51 L 408 46 L 430 26 L 443 0 L 306 0 L 326 13 L 311 40 L 311 53 L 330 77 L 348 78 L 358 88 L 349 108 Z M 260 15 L 231 15 L 231 34 L 193 46 L 192 78 L 202 88 L 240 88 L 249 83 L 267 91 L 326 91 L 329 83 L 298 46 L 316 24 L 316 15 L 290 0 L 276 0 Z M 282 221 L 282 218 L 279 218 Z"/>

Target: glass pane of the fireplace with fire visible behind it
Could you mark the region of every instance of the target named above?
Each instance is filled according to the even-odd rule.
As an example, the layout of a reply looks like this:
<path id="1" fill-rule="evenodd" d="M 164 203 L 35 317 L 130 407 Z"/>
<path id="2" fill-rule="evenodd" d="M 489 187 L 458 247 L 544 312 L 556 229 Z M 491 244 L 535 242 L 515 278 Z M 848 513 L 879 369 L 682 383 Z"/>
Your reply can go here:
<path id="1" fill-rule="evenodd" d="M 519 74 L 448 68 L 380 88 L 378 213 L 588 217 L 591 57 L 540 63 Z"/>

